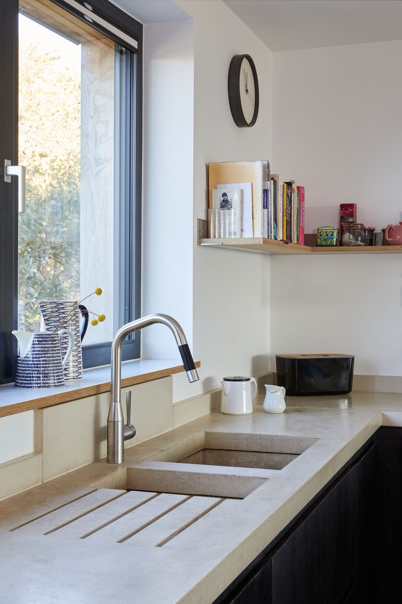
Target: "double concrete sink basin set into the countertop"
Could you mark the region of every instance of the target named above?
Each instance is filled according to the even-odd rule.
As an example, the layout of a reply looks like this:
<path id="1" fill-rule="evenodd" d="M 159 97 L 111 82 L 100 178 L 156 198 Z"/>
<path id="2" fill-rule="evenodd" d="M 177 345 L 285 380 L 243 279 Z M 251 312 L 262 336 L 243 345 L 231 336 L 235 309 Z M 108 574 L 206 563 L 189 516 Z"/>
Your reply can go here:
<path id="1" fill-rule="evenodd" d="M 243 499 L 316 440 L 200 432 L 88 486 Z"/>

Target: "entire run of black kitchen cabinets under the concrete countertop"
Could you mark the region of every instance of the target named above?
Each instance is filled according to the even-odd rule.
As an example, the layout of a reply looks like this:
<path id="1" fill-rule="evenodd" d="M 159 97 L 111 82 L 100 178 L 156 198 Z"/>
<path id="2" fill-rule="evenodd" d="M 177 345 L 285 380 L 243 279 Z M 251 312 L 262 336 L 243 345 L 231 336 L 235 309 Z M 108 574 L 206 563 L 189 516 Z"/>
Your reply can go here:
<path id="1" fill-rule="evenodd" d="M 402 428 L 380 428 L 214 604 L 402 602 Z"/>

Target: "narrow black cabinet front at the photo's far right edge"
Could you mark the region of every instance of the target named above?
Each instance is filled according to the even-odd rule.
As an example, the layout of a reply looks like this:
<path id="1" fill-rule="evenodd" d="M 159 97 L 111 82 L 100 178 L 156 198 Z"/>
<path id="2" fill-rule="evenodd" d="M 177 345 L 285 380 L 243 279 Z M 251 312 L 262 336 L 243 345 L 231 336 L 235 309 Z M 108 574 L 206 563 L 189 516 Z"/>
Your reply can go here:
<path id="1" fill-rule="evenodd" d="M 378 439 L 378 602 L 402 602 L 402 440 Z"/>

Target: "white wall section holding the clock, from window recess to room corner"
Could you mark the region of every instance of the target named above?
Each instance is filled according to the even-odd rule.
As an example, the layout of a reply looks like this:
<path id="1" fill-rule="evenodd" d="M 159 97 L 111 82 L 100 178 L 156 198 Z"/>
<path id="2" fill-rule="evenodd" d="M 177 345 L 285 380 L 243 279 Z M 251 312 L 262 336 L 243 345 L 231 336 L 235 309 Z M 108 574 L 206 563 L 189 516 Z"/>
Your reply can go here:
<path id="1" fill-rule="evenodd" d="M 220 0 L 176 0 L 194 19 L 193 352 L 200 381 L 174 376 L 173 398 L 220 386 L 225 375 L 268 367 L 270 257 L 196 245 L 197 218 L 206 219 L 208 162 L 270 159 L 272 53 Z M 238 128 L 228 101 L 234 54 L 252 56 L 260 85 L 254 127 Z M 144 277 L 145 278 L 145 277 Z"/>

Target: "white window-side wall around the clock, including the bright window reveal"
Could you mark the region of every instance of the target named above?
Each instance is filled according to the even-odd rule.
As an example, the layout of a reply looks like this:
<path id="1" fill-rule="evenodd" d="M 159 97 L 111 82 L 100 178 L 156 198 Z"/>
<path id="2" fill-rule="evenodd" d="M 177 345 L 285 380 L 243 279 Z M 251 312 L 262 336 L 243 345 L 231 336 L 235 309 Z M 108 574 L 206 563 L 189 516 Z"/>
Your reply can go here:
<path id="1" fill-rule="evenodd" d="M 221 0 L 176 4 L 190 21 L 144 25 L 142 244 L 142 315 L 174 316 L 202 364 L 196 384 L 174 376 L 174 402 L 268 368 L 270 258 L 200 248 L 197 218 L 207 217 L 208 162 L 270 159 L 272 136 L 272 53 Z M 229 109 L 229 63 L 240 53 L 260 82 L 251 129 Z M 142 332 L 142 356 L 177 358 L 165 327 Z"/>

